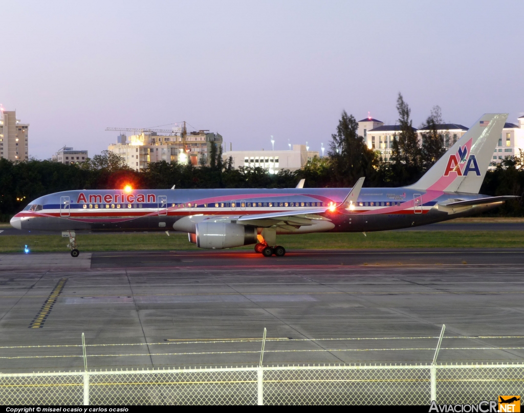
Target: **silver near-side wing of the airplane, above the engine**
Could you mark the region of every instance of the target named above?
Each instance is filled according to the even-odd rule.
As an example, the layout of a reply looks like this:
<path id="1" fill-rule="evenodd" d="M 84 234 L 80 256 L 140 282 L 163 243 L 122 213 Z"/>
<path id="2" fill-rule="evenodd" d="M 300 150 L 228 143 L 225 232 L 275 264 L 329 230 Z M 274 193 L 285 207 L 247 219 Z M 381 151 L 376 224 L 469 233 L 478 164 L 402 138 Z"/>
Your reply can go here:
<path id="1" fill-rule="evenodd" d="M 330 221 L 318 214 L 325 213 L 329 208 L 310 209 L 308 211 L 294 210 L 282 211 L 268 214 L 243 215 L 237 218 L 237 222 L 244 225 L 254 225 L 257 227 L 293 226 L 301 227 L 303 225 L 313 225 L 314 221 Z"/>

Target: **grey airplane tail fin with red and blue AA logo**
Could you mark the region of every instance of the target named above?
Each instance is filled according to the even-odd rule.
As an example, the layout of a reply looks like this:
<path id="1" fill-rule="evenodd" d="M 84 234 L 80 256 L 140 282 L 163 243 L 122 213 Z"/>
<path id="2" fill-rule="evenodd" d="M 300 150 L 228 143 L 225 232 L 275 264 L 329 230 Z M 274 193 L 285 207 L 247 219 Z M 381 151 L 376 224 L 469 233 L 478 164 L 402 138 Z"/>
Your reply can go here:
<path id="1" fill-rule="evenodd" d="M 411 189 L 478 194 L 508 114 L 478 119 Z"/>

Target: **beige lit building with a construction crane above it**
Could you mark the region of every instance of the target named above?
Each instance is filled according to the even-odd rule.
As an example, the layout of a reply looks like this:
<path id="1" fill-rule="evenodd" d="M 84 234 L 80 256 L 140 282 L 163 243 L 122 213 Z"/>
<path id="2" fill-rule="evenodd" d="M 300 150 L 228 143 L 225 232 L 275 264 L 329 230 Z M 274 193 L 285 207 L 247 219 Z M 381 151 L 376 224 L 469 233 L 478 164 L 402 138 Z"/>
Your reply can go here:
<path id="1" fill-rule="evenodd" d="M 211 146 L 217 153 L 222 146 L 222 136 L 209 130 L 187 132 L 185 125 L 173 128 L 166 135 L 158 132 L 141 130 L 137 135 L 118 136 L 117 143 L 112 143 L 108 150 L 119 155 L 125 164 L 136 171 L 147 170 L 150 162 L 191 163 L 209 165 Z"/>

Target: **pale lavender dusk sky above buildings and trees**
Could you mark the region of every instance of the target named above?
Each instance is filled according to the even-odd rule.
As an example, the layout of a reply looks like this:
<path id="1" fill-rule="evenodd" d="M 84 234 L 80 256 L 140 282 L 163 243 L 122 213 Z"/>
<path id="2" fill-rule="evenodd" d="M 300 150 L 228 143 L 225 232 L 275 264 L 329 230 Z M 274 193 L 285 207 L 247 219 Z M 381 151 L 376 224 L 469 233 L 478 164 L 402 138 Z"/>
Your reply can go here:
<path id="1" fill-rule="evenodd" d="M 433 105 L 466 127 L 524 114 L 522 1 L 3 1 L 0 15 L 0 103 L 39 159 L 182 120 L 227 149 L 273 135 L 320 150 L 344 109 L 394 124 L 398 92 L 415 127 Z"/>

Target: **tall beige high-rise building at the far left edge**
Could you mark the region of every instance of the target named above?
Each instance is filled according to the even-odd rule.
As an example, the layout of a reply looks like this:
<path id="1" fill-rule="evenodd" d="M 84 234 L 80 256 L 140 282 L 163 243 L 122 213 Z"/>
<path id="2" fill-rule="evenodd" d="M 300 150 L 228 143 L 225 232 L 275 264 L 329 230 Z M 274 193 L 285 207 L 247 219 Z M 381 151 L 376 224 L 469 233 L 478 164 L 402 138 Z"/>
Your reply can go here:
<path id="1" fill-rule="evenodd" d="M 16 118 L 15 110 L 0 110 L 0 158 L 9 161 L 25 161 L 28 155 L 29 124 L 23 124 Z"/>

